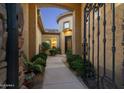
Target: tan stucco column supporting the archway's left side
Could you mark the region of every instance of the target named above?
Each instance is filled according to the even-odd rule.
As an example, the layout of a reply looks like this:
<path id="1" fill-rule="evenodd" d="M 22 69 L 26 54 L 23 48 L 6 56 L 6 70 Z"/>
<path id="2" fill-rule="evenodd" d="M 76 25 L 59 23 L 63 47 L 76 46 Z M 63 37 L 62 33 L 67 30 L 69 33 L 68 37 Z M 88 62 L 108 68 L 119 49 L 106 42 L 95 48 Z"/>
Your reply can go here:
<path id="1" fill-rule="evenodd" d="M 29 58 L 36 53 L 36 5 L 29 4 Z"/>

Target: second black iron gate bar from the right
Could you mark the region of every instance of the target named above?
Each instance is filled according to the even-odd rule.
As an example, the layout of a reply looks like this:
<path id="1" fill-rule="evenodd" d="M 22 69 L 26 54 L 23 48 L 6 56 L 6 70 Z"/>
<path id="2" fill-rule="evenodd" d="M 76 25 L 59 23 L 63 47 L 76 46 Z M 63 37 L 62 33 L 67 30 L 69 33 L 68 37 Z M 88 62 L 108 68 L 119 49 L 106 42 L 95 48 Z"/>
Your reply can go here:
<path id="1" fill-rule="evenodd" d="M 104 38 L 103 38 L 103 65 L 104 65 L 104 70 L 103 70 L 103 76 L 106 75 L 106 4 L 104 4 L 104 21 L 103 21 L 103 26 L 104 26 Z"/>

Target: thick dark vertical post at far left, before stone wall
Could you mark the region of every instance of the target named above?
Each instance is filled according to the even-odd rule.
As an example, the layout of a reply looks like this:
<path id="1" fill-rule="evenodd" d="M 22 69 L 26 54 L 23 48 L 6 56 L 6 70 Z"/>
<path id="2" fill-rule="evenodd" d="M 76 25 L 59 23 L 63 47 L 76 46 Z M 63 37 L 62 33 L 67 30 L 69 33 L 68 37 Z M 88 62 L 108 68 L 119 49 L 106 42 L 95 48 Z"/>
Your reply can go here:
<path id="1" fill-rule="evenodd" d="M 16 4 L 6 4 L 7 10 L 7 88 L 18 88 L 18 30 Z"/>

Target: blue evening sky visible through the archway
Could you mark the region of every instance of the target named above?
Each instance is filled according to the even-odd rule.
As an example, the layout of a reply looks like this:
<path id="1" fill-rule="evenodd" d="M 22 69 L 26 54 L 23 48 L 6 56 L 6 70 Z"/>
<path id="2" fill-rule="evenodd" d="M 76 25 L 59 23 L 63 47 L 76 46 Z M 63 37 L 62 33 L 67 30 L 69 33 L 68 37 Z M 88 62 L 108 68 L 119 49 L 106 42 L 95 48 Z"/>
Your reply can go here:
<path id="1" fill-rule="evenodd" d="M 56 18 L 58 15 L 60 15 L 64 12 L 67 12 L 67 10 L 60 9 L 60 8 L 52 8 L 52 7 L 41 8 L 40 14 L 41 14 L 44 28 L 58 29 L 58 24 L 56 22 Z"/>

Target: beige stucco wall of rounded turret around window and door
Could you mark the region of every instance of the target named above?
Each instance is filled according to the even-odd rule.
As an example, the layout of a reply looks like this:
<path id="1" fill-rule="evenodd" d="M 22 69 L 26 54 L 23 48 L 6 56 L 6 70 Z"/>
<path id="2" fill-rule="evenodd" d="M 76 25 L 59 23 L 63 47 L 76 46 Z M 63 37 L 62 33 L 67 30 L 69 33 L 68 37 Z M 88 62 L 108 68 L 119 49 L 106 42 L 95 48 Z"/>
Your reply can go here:
<path id="1" fill-rule="evenodd" d="M 69 15 L 69 16 L 65 16 L 63 18 L 61 18 L 58 22 L 59 25 L 59 32 L 60 33 L 60 43 L 61 43 L 61 53 L 65 54 L 65 36 L 72 36 L 72 33 L 69 33 L 67 35 L 64 34 L 63 30 L 64 30 L 64 22 L 69 21 L 70 23 L 70 29 L 73 29 L 73 15 Z M 72 46 L 73 47 L 73 46 Z"/>

